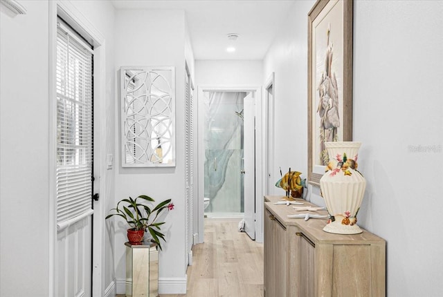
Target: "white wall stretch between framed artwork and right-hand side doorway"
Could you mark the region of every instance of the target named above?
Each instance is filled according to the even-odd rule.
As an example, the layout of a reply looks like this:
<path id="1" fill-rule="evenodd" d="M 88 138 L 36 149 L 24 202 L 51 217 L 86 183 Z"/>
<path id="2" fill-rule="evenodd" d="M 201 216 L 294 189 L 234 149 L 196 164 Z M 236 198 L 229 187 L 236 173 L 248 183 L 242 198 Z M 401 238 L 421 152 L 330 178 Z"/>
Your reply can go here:
<path id="1" fill-rule="evenodd" d="M 275 73 L 274 168 L 271 180 L 282 171 L 300 171 L 307 178 L 307 12 L 315 1 L 296 1 L 264 58 L 266 82 Z M 288 135 L 288 129 L 291 131 Z M 270 194 L 284 191 L 273 187 Z"/>

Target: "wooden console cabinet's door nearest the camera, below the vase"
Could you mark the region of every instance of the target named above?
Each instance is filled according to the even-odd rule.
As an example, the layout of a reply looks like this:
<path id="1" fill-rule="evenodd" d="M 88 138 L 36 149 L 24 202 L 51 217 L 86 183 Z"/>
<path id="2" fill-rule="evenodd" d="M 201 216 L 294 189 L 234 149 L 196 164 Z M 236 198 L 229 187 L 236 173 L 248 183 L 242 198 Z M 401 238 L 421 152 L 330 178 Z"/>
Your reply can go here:
<path id="1" fill-rule="evenodd" d="M 300 294 L 299 296 L 314 297 L 314 262 L 315 245 L 309 238 L 300 238 Z"/>

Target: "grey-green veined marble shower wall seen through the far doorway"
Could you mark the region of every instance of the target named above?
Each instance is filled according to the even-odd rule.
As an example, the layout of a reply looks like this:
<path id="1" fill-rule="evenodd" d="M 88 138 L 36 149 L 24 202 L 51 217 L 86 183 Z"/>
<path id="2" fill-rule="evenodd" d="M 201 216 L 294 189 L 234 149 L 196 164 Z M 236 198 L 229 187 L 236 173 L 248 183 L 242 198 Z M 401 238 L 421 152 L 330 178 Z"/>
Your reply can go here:
<path id="1" fill-rule="evenodd" d="M 244 201 L 244 92 L 205 92 L 204 189 L 206 212 L 242 213 Z"/>

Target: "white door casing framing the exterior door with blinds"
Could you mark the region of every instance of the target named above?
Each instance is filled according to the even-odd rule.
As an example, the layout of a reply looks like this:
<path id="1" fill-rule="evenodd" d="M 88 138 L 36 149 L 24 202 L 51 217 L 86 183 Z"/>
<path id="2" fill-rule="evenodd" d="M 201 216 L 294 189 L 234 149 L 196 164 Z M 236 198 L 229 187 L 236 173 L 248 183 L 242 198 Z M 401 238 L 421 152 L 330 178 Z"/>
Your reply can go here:
<path id="1" fill-rule="evenodd" d="M 55 66 L 57 64 L 57 15 L 68 21 L 82 35 L 89 37 L 94 48 L 94 193 L 100 193 L 100 199 L 93 202 L 93 250 L 92 250 L 92 296 L 105 296 L 105 37 L 93 26 L 82 12 L 69 1 L 49 1 L 49 134 L 50 155 L 55 156 L 57 147 L 57 94 L 55 91 Z M 50 160 L 49 182 L 49 283 L 50 297 L 56 296 L 55 271 L 57 265 L 57 224 L 56 224 L 56 190 L 55 190 L 55 157 Z"/>

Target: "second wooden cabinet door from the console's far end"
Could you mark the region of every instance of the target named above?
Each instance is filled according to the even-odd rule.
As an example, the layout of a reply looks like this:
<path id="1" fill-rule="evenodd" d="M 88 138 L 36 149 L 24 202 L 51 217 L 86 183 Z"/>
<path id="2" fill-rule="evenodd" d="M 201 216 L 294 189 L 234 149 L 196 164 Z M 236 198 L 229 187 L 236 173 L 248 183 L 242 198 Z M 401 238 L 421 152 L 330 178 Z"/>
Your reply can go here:
<path id="1" fill-rule="evenodd" d="M 274 226 L 274 291 L 275 297 L 282 297 L 287 296 L 286 228 L 278 220 L 275 220 Z"/>

